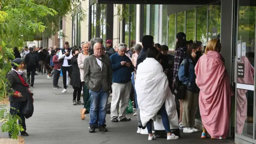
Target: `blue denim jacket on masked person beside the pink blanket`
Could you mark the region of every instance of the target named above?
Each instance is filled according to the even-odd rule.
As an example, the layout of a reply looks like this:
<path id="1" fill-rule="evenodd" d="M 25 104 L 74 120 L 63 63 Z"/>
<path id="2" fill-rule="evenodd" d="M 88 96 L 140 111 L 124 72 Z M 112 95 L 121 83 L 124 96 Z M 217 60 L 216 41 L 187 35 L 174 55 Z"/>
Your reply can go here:
<path id="1" fill-rule="evenodd" d="M 189 65 L 187 65 L 189 62 Z M 196 74 L 195 74 L 196 63 L 191 58 L 185 58 L 178 70 L 179 80 L 187 86 L 191 92 L 199 92 L 199 88 L 196 85 Z"/>

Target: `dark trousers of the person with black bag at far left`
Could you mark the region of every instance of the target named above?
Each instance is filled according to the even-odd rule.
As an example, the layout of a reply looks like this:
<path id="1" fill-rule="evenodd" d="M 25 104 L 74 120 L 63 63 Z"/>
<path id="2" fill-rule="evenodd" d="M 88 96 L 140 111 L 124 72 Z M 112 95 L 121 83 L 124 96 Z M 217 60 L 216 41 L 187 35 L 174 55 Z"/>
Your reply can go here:
<path id="1" fill-rule="evenodd" d="M 27 101 L 23 102 L 10 102 L 10 114 L 12 116 L 19 116 L 21 120 L 19 120 L 19 124 L 23 127 L 24 131 L 26 131 L 25 117 L 22 114 L 22 109 L 26 106 Z M 13 109 L 14 108 L 14 109 Z M 9 132 L 10 134 L 10 132 Z"/>

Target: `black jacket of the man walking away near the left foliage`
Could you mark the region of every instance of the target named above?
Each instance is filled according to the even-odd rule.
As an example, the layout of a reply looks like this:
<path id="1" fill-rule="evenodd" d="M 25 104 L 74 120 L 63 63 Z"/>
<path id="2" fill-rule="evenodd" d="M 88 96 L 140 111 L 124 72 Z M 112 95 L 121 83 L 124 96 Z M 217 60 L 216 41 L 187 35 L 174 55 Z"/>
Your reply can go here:
<path id="1" fill-rule="evenodd" d="M 26 68 L 29 68 L 29 67 L 38 68 L 39 60 L 38 60 L 37 54 L 34 52 L 30 52 L 26 54 L 24 58 L 24 63 L 26 64 Z"/>

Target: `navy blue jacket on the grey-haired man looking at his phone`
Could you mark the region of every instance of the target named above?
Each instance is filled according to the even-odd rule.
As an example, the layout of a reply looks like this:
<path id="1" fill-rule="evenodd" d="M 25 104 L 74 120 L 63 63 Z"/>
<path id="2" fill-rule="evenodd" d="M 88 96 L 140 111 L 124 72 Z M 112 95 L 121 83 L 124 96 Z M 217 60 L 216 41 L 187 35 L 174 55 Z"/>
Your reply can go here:
<path id="1" fill-rule="evenodd" d="M 128 56 L 124 55 L 121 57 L 117 52 L 112 54 L 110 57 L 110 63 L 113 73 L 112 82 L 116 83 L 127 83 L 131 81 L 132 72 L 134 71 L 134 66 L 132 61 Z M 131 66 L 128 68 L 127 66 L 122 66 L 121 62 L 126 61 L 130 62 Z"/>

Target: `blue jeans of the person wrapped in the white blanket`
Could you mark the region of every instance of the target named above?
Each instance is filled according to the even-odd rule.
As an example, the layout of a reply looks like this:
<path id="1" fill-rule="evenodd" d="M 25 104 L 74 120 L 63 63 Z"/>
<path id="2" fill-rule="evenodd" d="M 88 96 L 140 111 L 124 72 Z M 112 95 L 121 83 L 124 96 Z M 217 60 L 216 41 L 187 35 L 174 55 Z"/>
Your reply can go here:
<path id="1" fill-rule="evenodd" d="M 159 112 L 161 113 L 162 122 L 163 122 L 164 129 L 165 129 L 166 133 L 171 132 L 170 123 L 169 123 L 168 115 L 167 115 L 164 104 L 163 104 L 162 108 L 160 108 Z M 146 126 L 147 126 L 147 129 L 148 129 L 148 133 L 152 134 L 152 122 L 151 122 L 151 120 L 149 122 L 147 122 Z"/>

